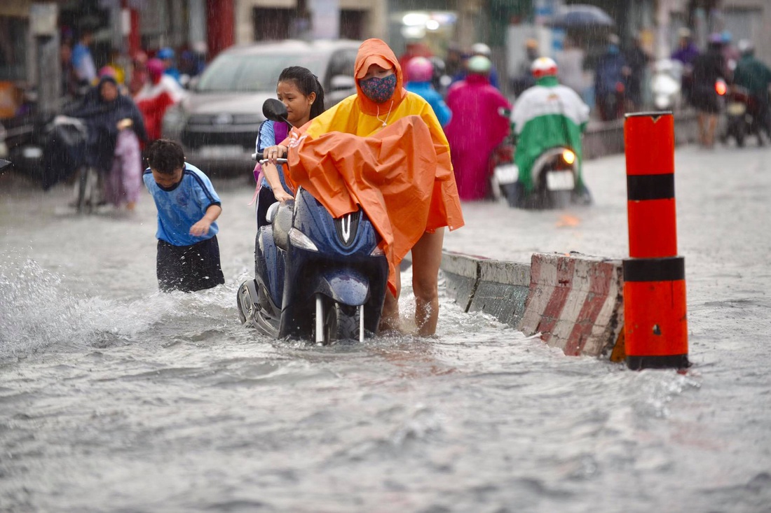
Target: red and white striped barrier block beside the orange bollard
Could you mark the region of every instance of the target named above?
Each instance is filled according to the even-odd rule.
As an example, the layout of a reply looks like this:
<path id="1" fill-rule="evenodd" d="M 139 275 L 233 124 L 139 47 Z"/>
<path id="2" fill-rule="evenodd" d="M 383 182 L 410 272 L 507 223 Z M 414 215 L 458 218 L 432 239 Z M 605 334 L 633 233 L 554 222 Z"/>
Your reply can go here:
<path id="1" fill-rule="evenodd" d="M 621 260 L 534 253 L 519 329 L 567 355 L 610 354 L 624 327 Z"/>

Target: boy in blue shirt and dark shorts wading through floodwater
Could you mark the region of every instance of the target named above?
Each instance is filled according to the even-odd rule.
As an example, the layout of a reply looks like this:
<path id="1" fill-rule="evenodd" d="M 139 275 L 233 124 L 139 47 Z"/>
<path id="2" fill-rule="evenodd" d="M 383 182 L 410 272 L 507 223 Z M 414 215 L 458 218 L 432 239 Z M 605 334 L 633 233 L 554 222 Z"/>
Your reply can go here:
<path id="1" fill-rule="evenodd" d="M 146 157 L 143 180 L 158 209 L 158 287 L 193 292 L 225 283 L 217 243 L 222 208 L 209 178 L 185 162 L 177 142 L 158 139 Z"/>

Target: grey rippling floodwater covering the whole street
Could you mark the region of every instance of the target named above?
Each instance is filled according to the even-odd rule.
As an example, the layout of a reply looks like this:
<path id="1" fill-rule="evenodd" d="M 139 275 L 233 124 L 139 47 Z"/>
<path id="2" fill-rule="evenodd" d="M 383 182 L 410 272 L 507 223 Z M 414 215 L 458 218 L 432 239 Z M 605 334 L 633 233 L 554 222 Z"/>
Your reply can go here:
<path id="1" fill-rule="evenodd" d="M 149 197 L 76 216 L 63 187 L 4 187 L 0 511 L 771 511 L 769 156 L 678 149 L 685 374 L 566 357 L 444 297 L 435 338 L 268 340 L 235 307 L 246 181 L 215 182 L 226 284 L 190 294 L 157 292 Z M 584 166 L 594 206 L 464 205 L 446 248 L 624 257 L 623 156 Z"/>

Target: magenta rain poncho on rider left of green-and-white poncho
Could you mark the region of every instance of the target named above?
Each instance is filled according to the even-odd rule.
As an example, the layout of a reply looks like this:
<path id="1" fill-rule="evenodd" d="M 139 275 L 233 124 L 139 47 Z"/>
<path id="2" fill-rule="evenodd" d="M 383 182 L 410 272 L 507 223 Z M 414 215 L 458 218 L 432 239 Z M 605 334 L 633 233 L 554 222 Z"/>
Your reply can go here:
<path id="1" fill-rule="evenodd" d="M 460 199 L 484 199 L 489 183 L 487 162 L 510 129 L 500 109 L 511 109 L 507 99 L 483 75 L 468 75 L 452 86 L 445 102 L 453 118 L 444 132 L 453 158 Z"/>

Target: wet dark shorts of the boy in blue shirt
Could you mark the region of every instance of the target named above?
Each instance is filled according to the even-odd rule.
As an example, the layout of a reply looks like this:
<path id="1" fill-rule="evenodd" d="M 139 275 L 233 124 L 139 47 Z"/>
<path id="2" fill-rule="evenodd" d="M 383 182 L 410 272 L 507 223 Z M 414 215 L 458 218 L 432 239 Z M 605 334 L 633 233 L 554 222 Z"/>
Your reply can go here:
<path id="1" fill-rule="evenodd" d="M 192 246 L 174 246 L 159 239 L 157 275 L 163 292 L 194 292 L 225 283 L 217 236 Z"/>

